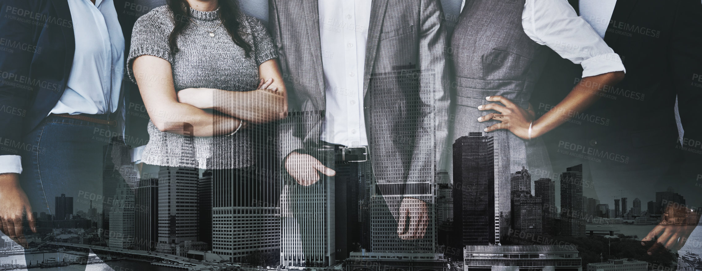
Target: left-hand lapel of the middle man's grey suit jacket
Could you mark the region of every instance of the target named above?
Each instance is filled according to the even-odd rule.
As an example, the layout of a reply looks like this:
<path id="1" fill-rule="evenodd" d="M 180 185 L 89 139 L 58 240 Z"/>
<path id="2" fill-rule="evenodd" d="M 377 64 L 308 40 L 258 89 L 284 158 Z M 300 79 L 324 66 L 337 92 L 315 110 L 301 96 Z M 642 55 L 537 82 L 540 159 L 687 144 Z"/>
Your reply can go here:
<path id="1" fill-rule="evenodd" d="M 322 71 L 322 42 L 319 41 L 319 2 L 317 0 L 305 0 L 303 1 L 303 13 L 305 14 L 305 22 L 307 22 L 307 36 L 310 37 L 310 50 L 312 50 L 312 66 L 314 69 L 314 76 L 316 77 L 317 92 L 319 95 L 312 95 L 312 97 L 317 97 L 317 104 L 324 104 L 326 108 L 326 93 L 324 92 L 324 72 Z"/>

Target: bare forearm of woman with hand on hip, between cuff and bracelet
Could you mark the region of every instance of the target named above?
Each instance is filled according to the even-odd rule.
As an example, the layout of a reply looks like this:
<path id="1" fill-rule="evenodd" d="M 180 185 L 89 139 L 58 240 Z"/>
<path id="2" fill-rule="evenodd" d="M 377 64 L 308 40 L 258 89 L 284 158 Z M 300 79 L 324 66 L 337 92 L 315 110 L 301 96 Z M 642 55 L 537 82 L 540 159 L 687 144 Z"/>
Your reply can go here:
<path id="1" fill-rule="evenodd" d="M 623 78 L 622 71 L 583 78 L 553 109 L 534 120 L 531 136 L 540 137 L 568 121 L 575 113 L 585 111 L 600 98 L 599 92 L 604 91 L 604 86 L 616 85 Z"/>

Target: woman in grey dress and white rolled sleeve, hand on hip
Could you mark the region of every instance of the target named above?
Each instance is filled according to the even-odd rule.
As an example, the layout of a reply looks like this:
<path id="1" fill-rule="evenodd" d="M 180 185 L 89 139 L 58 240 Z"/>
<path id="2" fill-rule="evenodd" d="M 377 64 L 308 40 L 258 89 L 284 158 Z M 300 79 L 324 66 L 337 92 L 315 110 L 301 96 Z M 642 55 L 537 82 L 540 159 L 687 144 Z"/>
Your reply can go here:
<path id="1" fill-rule="evenodd" d="M 559 111 L 536 118 L 529 99 L 539 91 L 534 84 L 549 49 L 581 64 L 588 81 L 616 83 L 624 76 L 619 56 L 560 0 L 465 1 L 451 48 L 457 86 L 453 137 L 493 137 L 496 187 L 509 187 L 508 172 L 523 167 L 537 178 L 550 176 L 550 159 L 538 137 L 567 121 L 569 112 L 580 111 L 597 99 L 592 94 L 596 90 L 581 84 L 558 102 Z M 466 170 L 453 168 L 454 183 L 475 181 L 456 177 Z M 494 217 L 501 218 L 499 226 L 491 221 L 493 216 L 457 216 L 454 225 L 465 229 L 487 218 L 482 223 L 495 225 L 494 232 L 504 235 L 510 227 L 510 190 L 486 196 L 497 198 Z M 479 197 L 466 200 L 480 204 Z M 499 239 L 496 233 L 490 242 L 500 243 Z M 458 247 L 471 242 L 481 240 L 464 237 Z"/>

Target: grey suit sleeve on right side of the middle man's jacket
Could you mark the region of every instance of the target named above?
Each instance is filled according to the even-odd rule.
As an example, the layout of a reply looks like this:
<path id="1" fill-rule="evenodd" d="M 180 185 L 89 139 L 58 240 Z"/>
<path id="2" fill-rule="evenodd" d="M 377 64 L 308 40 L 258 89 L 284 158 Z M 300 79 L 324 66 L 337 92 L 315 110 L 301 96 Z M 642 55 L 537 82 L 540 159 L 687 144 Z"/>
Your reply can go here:
<path id="1" fill-rule="evenodd" d="M 414 143 L 409 179 L 433 178 L 435 169 L 443 167 L 449 127 L 449 67 L 446 64 L 446 29 L 442 25 L 439 0 L 423 0 L 420 6 L 419 65 L 420 99 L 423 106 Z M 428 146 L 431 146 L 428 148 Z M 427 170 L 429 169 L 429 170 Z M 427 175 L 430 172 L 430 176 Z M 423 194 L 405 186 L 404 195 Z"/>

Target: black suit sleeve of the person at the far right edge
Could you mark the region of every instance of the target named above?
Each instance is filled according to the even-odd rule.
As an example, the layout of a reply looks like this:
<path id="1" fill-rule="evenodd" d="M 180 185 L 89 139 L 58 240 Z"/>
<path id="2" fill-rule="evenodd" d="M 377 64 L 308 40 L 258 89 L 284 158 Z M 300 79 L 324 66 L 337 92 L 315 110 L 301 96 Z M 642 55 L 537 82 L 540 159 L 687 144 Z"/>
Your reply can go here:
<path id="1" fill-rule="evenodd" d="M 675 3 L 678 6 L 670 41 L 670 76 L 684 130 L 685 163 L 696 167 L 702 161 L 702 3 Z"/>

